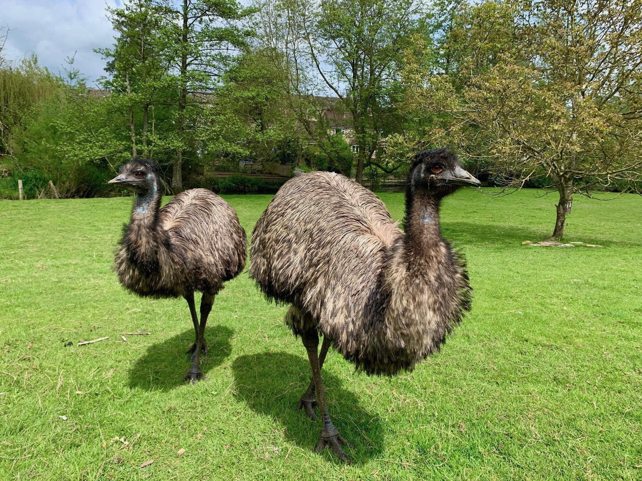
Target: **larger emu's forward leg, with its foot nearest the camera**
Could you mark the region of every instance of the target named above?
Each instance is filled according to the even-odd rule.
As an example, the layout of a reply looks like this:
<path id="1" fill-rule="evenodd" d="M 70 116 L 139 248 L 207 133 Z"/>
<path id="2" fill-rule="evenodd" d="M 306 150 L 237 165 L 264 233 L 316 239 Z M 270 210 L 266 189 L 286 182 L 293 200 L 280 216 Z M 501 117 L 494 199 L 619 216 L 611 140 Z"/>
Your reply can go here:
<path id="1" fill-rule="evenodd" d="M 341 437 L 339 431 L 334 427 L 332 420 L 327 412 L 325 405 L 325 394 L 321 380 L 321 370 L 319 369 L 319 360 L 317 355 L 319 337 L 317 330 L 309 330 L 301 335 L 303 345 L 308 351 L 308 359 L 310 361 L 310 368 L 312 369 L 312 378 L 315 382 L 315 389 L 317 391 L 317 400 L 321 412 L 323 414 L 323 430 L 319 437 L 319 442 L 315 448 L 315 452 L 330 446 L 334 453 L 343 461 L 350 463 L 350 458 L 343 452 L 341 446 L 345 446 L 347 441 Z"/>

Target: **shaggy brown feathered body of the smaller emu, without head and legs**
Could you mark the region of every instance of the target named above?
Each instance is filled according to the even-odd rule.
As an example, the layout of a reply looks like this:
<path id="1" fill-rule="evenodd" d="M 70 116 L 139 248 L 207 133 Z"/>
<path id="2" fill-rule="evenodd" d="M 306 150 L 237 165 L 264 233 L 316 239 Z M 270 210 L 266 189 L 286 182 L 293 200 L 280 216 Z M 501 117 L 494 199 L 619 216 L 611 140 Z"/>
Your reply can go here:
<path id="1" fill-rule="evenodd" d="M 234 209 L 210 190 L 181 192 L 155 215 L 137 209 L 116 254 L 119 280 L 130 291 L 152 297 L 216 294 L 243 271 L 245 231 Z"/>

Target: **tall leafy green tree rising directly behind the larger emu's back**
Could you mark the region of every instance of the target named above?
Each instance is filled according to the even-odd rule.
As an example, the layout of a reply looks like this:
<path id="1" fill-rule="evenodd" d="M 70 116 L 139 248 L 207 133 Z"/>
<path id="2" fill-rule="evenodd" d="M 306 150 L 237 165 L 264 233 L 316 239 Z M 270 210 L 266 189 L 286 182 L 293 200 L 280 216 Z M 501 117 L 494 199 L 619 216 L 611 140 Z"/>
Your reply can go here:
<path id="1" fill-rule="evenodd" d="M 417 5 L 412 0 L 324 0 L 301 11 L 307 53 L 351 117 L 359 146 L 355 178 L 361 182 L 386 120 L 392 119 L 386 114 L 397 93 L 396 71 L 415 28 Z"/>

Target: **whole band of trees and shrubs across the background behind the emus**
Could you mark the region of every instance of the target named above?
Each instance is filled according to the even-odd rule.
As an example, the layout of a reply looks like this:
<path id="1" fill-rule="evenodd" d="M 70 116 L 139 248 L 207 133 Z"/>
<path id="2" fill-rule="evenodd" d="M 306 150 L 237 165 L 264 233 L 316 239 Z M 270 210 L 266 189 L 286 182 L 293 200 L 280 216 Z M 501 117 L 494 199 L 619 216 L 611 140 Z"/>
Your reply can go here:
<path id="1" fill-rule="evenodd" d="M 100 90 L 0 42 L 0 194 L 107 195 L 132 155 L 168 193 L 239 161 L 374 186 L 449 144 L 484 181 L 556 191 L 562 237 L 574 194 L 641 190 L 639 2 L 131 0 Z"/>

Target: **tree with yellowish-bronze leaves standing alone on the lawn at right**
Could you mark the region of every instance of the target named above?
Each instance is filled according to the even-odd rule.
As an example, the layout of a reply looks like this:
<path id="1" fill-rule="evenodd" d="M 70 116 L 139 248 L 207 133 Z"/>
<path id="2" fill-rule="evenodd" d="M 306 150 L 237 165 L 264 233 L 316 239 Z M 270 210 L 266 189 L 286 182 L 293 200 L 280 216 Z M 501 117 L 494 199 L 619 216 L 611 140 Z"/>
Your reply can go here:
<path id="1" fill-rule="evenodd" d="M 408 55 L 407 107 L 440 114 L 434 142 L 474 142 L 508 185 L 548 176 L 559 193 L 551 239 L 573 194 L 642 180 L 642 2 L 536 0 L 470 7 L 510 12 L 510 39 L 484 68 L 428 72 Z M 478 18 L 479 20 L 479 18 Z M 475 22 L 465 28 L 472 31 Z M 507 22 L 497 22 L 502 31 Z M 497 30 L 492 30 L 497 33 Z M 421 43 L 421 40 L 420 40 Z M 473 49 L 464 65 L 480 58 Z M 472 139 L 472 140 L 471 140 Z"/>

